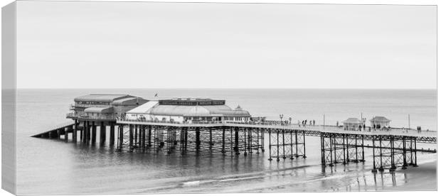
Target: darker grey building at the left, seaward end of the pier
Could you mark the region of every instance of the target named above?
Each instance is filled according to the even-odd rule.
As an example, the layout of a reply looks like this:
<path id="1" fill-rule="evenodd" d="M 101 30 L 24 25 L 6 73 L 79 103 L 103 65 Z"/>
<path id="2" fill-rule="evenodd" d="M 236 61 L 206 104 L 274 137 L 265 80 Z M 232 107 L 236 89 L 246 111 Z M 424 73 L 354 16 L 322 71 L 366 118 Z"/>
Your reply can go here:
<path id="1" fill-rule="evenodd" d="M 68 118 L 115 120 L 117 116 L 147 103 L 148 100 L 129 94 L 87 94 L 76 97 L 74 102 L 70 106 L 73 112 L 68 114 Z"/>

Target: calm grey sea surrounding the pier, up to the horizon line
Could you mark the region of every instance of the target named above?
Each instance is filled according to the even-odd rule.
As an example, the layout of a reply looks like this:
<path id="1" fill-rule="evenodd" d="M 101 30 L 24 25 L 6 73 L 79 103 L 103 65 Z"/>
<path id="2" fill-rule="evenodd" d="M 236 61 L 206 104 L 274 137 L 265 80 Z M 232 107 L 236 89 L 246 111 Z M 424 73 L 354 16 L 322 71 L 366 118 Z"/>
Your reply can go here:
<path id="1" fill-rule="evenodd" d="M 69 121 L 65 114 L 73 98 L 91 93 L 225 99 L 233 109 L 240 105 L 253 116 L 275 120 L 283 114 L 285 119 L 292 117 L 293 123 L 314 119 L 316 124 L 335 125 L 363 115 L 366 119 L 386 116 L 391 126 L 408 127 L 410 115 L 412 128 L 437 128 L 435 89 L 18 89 L 18 195 L 365 191 L 418 183 L 418 175 L 411 173 L 371 173 L 369 149 L 365 163 L 322 168 L 318 137 L 307 137 L 307 158 L 280 162 L 267 160 L 267 151 L 248 156 L 127 153 L 108 145 L 30 137 Z M 420 164 L 434 160 L 433 153 L 418 155 Z M 425 187 L 434 190 L 436 183 Z"/>

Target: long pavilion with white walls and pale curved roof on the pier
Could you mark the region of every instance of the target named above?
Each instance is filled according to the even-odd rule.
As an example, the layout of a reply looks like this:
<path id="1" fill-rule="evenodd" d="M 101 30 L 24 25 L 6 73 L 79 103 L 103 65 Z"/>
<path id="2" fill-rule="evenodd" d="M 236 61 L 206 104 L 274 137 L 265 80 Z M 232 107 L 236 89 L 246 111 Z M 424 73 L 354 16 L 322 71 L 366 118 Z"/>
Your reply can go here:
<path id="1" fill-rule="evenodd" d="M 240 106 L 231 109 L 225 100 L 175 98 L 150 101 L 127 111 L 129 120 L 195 123 L 209 121 L 249 121 L 250 113 Z"/>

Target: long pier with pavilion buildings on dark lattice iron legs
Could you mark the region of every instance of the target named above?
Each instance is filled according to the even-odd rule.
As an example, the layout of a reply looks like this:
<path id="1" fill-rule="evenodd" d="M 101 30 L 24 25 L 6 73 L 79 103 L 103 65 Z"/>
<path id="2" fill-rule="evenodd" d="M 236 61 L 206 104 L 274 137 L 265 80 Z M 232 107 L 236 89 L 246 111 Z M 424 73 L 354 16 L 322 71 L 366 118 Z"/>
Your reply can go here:
<path id="1" fill-rule="evenodd" d="M 252 121 L 248 111 L 240 107 L 230 109 L 223 100 L 147 101 L 129 95 L 91 94 L 75 98 L 71 109 L 75 112 L 66 117 L 73 122 L 33 137 L 68 142 L 70 134 L 74 143 L 105 145 L 109 134 L 109 145 L 119 151 L 183 156 L 205 151 L 222 156 L 267 153 L 268 160 L 280 161 L 307 158 L 305 137 L 315 136 L 320 138 L 324 167 L 372 161 L 373 172 L 416 167 L 417 152 L 428 151 L 418 149 L 417 144 L 437 143 L 436 131 Z M 367 151 L 372 152 L 371 160 L 366 160 Z"/>

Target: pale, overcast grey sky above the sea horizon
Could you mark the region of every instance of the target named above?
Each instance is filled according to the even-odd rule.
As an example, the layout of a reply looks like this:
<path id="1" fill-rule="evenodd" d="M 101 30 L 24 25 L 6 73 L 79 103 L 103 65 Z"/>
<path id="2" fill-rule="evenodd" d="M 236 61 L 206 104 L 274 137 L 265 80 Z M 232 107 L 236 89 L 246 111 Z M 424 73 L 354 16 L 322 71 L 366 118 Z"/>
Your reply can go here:
<path id="1" fill-rule="evenodd" d="M 436 6 L 18 1 L 18 88 L 435 89 Z"/>

